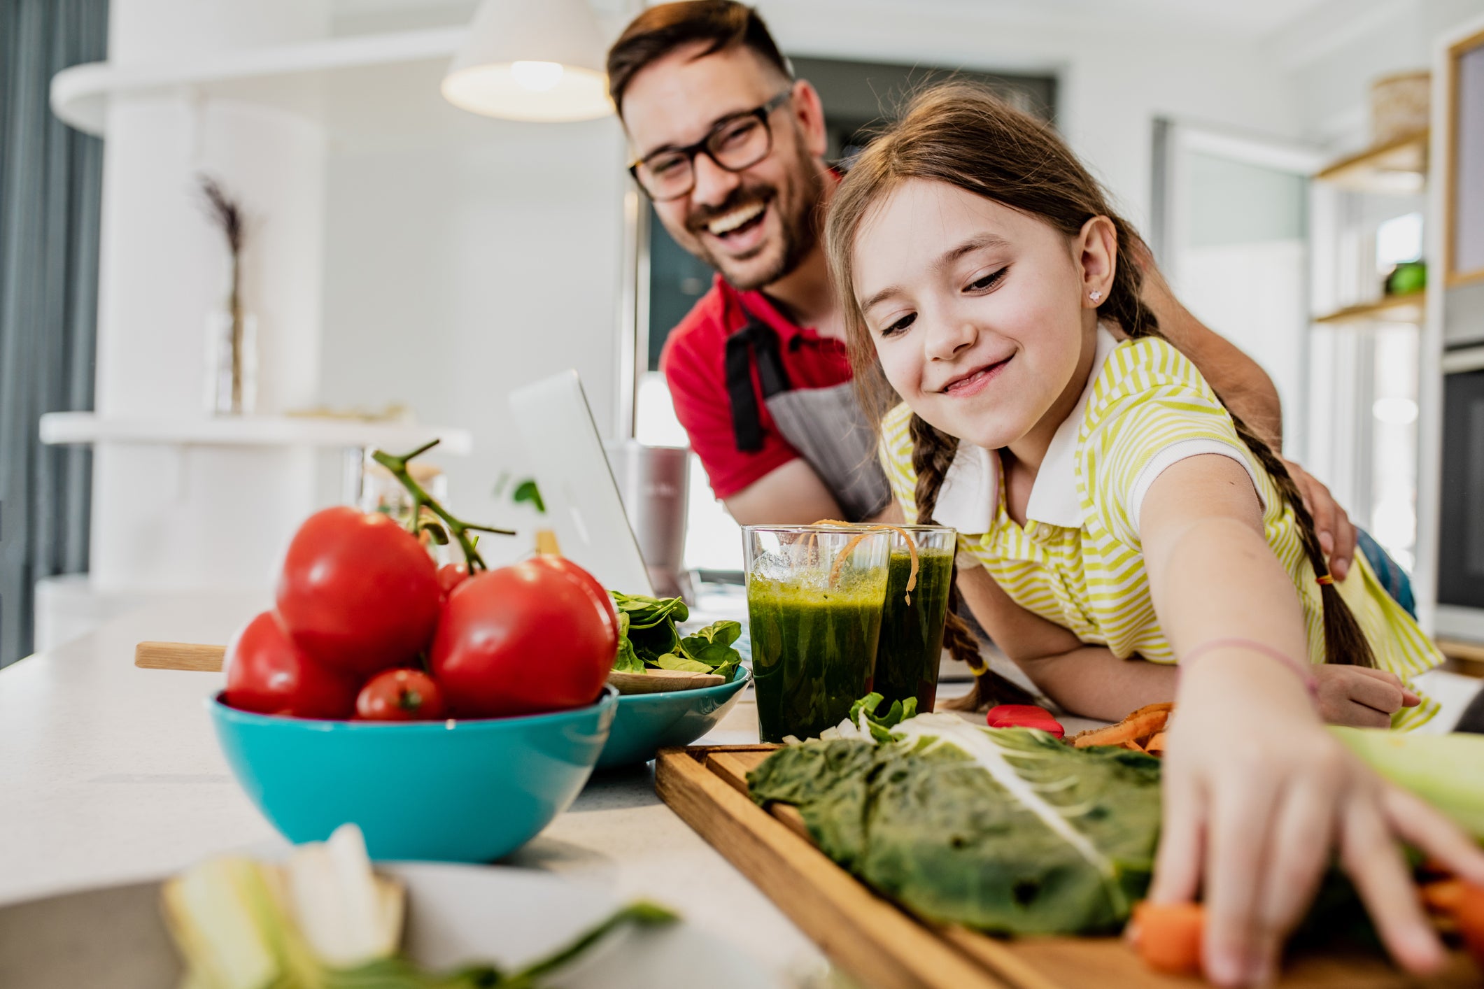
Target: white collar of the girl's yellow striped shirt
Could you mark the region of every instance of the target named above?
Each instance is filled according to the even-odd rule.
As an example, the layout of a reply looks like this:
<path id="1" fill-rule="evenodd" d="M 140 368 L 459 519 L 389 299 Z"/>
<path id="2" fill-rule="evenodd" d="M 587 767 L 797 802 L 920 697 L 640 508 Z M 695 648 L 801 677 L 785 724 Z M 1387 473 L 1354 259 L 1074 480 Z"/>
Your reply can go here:
<path id="1" fill-rule="evenodd" d="M 1092 400 L 1092 387 L 1117 341 L 1101 323 L 1098 325 L 1097 351 L 1082 397 L 1071 414 L 1061 421 L 1046 446 L 1036 480 L 1030 488 L 1025 517 L 1067 529 L 1082 526 L 1082 495 L 1077 494 L 1077 433 Z M 938 525 L 950 525 L 960 532 L 988 532 L 1000 506 L 1000 458 L 996 452 L 959 442 L 953 464 L 938 488 L 938 503 L 933 519 Z"/>

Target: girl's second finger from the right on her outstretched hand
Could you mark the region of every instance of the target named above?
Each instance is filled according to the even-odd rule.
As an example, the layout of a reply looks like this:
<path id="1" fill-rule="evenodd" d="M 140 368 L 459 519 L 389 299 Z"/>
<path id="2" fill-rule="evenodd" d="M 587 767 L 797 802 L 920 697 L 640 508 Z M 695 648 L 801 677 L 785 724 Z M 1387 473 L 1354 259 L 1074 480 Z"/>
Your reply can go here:
<path id="1" fill-rule="evenodd" d="M 1340 863 L 1355 882 L 1376 930 L 1404 968 L 1437 970 L 1442 945 L 1423 915 L 1411 869 L 1392 841 L 1388 821 L 1371 793 L 1352 796 L 1340 811 Z"/>

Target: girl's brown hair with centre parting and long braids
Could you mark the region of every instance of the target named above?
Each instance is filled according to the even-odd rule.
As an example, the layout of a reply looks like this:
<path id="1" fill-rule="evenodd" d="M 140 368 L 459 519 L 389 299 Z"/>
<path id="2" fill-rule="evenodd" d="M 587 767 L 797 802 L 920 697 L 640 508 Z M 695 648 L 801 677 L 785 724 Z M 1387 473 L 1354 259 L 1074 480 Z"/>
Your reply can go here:
<path id="1" fill-rule="evenodd" d="M 1098 305 L 1098 317 L 1116 322 L 1131 338 L 1160 337 L 1155 314 L 1140 298 L 1143 274 L 1131 252 L 1138 243 L 1138 234 L 1113 212 L 1097 179 L 1049 125 L 1008 107 L 981 86 L 944 83 L 913 99 L 901 120 L 856 159 L 835 190 L 825 221 L 825 252 L 846 319 L 850 363 L 856 371 L 862 403 L 873 421 L 880 423 L 881 415 L 898 399 L 880 372 L 876 347 L 856 302 L 852 254 L 856 233 L 871 209 L 910 178 L 948 182 L 1039 216 L 1068 237 L 1080 233 L 1083 224 L 1094 216 L 1107 216 L 1117 234 L 1117 262 L 1109 295 Z M 1232 423 L 1293 509 L 1304 555 L 1315 574 L 1328 574 L 1313 519 L 1284 461 L 1241 418 L 1232 415 Z M 917 472 L 917 522 L 928 523 L 959 440 L 916 414 L 911 417 L 910 431 L 913 467 Z M 1376 666 L 1371 646 L 1339 589 L 1325 583 L 1319 590 L 1324 601 L 1325 661 Z M 956 623 L 950 615 L 950 626 Z M 945 636 L 945 641 L 963 648 L 962 638 L 959 630 Z M 968 660 L 974 667 L 982 666 L 976 652 L 971 658 L 966 652 L 960 654 L 960 648 L 953 651 L 956 658 Z M 993 689 L 993 684 L 985 688 Z"/>

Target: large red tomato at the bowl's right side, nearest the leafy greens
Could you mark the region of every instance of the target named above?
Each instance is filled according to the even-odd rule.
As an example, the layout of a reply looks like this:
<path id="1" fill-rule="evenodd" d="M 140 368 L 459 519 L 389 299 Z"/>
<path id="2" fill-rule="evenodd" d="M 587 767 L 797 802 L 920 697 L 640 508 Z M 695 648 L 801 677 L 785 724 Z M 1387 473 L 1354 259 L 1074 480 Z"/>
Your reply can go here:
<path id="1" fill-rule="evenodd" d="M 475 574 L 444 603 L 432 669 L 463 718 L 591 704 L 619 651 L 613 602 L 561 558 Z"/>

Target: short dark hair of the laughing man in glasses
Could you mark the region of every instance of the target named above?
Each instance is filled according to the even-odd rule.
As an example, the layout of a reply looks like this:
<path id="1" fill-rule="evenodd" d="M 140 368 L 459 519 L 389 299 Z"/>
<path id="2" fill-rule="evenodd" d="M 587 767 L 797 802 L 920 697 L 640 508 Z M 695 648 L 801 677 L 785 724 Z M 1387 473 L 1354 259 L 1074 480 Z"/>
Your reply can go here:
<path id="1" fill-rule="evenodd" d="M 696 56 L 712 55 L 741 44 L 757 52 L 766 64 L 791 79 L 788 62 L 757 10 L 736 0 L 687 0 L 662 3 L 634 18 L 608 49 L 608 95 L 623 116 L 623 90 L 641 68 L 657 62 L 677 47 L 705 42 Z"/>

